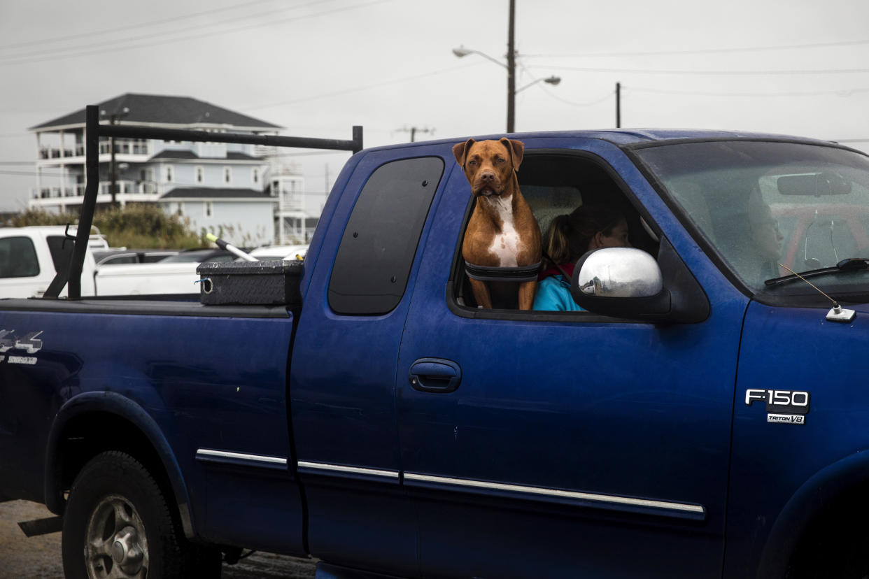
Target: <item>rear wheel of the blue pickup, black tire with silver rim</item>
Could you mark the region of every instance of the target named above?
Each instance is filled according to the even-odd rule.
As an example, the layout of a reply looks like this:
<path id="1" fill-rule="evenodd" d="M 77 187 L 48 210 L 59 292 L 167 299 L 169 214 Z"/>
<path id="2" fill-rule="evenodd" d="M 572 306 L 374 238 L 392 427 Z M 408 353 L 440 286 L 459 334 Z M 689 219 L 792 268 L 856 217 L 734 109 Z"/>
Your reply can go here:
<path id="1" fill-rule="evenodd" d="M 67 579 L 219 577 L 217 549 L 189 543 L 149 471 L 123 452 L 79 472 L 63 514 Z"/>

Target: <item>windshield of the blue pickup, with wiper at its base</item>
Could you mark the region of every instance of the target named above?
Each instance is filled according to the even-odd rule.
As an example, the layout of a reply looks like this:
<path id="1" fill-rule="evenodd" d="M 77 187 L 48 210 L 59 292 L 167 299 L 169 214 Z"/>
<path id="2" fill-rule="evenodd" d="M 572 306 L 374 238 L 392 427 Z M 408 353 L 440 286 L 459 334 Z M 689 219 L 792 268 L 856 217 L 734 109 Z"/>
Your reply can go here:
<path id="1" fill-rule="evenodd" d="M 753 292 L 812 293 L 765 280 L 869 257 L 869 158 L 772 141 L 693 142 L 637 151 L 726 265 Z M 825 291 L 869 291 L 869 274 L 816 278 Z"/>

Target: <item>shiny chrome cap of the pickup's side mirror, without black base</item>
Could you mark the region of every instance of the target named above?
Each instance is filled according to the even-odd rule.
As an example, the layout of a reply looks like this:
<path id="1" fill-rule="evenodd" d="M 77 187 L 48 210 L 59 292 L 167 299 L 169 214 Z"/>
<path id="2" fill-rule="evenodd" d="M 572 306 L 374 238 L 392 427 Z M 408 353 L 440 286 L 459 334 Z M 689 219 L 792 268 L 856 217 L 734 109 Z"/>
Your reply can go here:
<path id="1" fill-rule="evenodd" d="M 574 295 L 653 298 L 664 288 L 658 262 L 633 247 L 605 247 L 588 253 L 574 273 Z"/>

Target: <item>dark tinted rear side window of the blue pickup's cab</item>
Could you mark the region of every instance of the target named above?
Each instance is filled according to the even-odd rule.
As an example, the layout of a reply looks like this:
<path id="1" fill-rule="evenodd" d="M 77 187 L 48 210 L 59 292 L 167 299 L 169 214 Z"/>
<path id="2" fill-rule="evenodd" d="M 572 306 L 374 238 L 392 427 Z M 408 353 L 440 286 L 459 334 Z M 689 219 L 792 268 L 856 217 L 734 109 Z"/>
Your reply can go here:
<path id="1" fill-rule="evenodd" d="M 401 301 L 443 169 L 440 157 L 421 157 L 389 162 L 371 174 L 329 280 L 328 303 L 336 313 L 388 313 Z"/>

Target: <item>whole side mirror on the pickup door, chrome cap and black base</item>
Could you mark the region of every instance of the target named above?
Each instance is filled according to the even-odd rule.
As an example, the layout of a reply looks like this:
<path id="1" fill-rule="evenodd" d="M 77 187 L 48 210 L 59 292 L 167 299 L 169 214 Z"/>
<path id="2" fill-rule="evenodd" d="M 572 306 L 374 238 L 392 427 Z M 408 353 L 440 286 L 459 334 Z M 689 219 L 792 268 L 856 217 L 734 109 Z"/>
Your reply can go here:
<path id="1" fill-rule="evenodd" d="M 570 292 L 589 312 L 621 318 L 667 319 L 670 293 L 658 262 L 633 247 L 606 247 L 583 255 Z"/>

